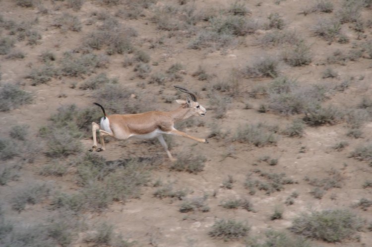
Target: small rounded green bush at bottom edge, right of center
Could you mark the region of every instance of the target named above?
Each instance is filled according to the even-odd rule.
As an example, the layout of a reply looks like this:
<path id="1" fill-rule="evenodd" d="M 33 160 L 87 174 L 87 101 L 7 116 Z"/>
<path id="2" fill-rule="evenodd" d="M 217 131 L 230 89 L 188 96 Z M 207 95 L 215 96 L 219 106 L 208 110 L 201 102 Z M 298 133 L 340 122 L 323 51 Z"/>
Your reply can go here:
<path id="1" fill-rule="evenodd" d="M 217 220 L 209 231 L 209 236 L 225 241 L 238 240 L 248 235 L 250 227 L 245 222 L 229 220 Z"/>

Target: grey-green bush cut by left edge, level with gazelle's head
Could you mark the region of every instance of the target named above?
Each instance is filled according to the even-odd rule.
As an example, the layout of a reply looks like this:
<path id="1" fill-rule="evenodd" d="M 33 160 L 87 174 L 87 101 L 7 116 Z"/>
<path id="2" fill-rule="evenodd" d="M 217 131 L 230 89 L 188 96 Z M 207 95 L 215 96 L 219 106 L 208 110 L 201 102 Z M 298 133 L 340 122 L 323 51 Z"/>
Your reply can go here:
<path id="1" fill-rule="evenodd" d="M 20 89 L 16 84 L 5 83 L 0 88 L 0 112 L 13 110 L 21 105 L 31 103 L 32 94 Z"/>

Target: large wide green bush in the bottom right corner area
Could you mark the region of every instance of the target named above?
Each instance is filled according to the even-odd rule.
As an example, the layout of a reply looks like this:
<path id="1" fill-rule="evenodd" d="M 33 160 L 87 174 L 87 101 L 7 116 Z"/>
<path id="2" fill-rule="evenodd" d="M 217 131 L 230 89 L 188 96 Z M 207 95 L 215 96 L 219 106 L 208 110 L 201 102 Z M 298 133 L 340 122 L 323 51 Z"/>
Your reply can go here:
<path id="1" fill-rule="evenodd" d="M 362 220 L 348 209 L 329 209 L 297 216 L 291 230 L 313 239 L 340 242 L 353 237 L 362 226 Z"/>

